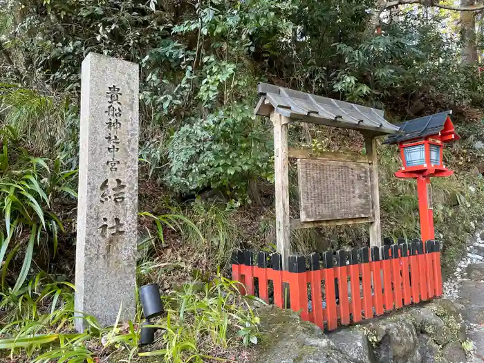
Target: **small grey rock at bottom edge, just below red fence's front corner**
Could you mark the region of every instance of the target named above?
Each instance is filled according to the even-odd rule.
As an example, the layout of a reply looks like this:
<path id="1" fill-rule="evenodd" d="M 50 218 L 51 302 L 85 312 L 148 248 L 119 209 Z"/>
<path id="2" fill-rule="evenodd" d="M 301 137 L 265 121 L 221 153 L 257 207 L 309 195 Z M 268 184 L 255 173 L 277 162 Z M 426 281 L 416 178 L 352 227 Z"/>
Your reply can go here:
<path id="1" fill-rule="evenodd" d="M 372 363 L 373 351 L 366 335 L 357 328 L 345 329 L 329 333 L 328 339 L 333 342 L 335 349 L 351 359 L 354 363 Z"/>

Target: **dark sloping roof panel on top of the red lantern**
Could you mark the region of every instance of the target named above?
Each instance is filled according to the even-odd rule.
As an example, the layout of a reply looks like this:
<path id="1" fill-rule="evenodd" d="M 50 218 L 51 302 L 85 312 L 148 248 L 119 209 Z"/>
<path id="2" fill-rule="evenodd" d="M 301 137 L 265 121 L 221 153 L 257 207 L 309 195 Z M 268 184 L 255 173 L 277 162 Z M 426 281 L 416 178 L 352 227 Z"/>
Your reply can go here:
<path id="1" fill-rule="evenodd" d="M 438 135 L 440 131 L 443 131 L 445 122 L 448 119 L 452 122 L 452 111 L 443 111 L 435 113 L 434 115 L 414 118 L 413 120 L 402 122 L 397 125 L 400 127 L 400 133 L 389 136 L 384 144 L 398 144 L 402 141 Z"/>

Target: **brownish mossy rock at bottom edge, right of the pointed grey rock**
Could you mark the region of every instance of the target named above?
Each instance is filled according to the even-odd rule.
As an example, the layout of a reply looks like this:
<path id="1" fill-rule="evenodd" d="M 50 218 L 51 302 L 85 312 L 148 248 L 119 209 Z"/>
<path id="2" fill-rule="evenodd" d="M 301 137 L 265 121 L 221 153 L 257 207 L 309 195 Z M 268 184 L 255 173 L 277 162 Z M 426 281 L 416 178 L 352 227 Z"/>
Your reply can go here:
<path id="1" fill-rule="evenodd" d="M 382 319 L 366 325 L 375 334 L 375 362 L 377 363 L 421 363 L 418 337 L 411 322 L 400 319 L 389 322 Z"/>

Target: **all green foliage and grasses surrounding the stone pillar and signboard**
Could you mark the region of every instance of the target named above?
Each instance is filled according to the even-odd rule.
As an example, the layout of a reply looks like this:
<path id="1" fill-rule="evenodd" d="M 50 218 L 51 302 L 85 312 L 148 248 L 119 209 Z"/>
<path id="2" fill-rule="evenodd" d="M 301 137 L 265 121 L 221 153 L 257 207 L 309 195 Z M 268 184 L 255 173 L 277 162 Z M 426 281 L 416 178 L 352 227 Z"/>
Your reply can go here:
<path id="1" fill-rule="evenodd" d="M 452 270 L 484 212 L 484 78 L 461 62 L 455 13 L 401 6 L 375 31 L 374 12 L 373 0 L 0 0 L 0 335 L 9 336 L 0 348 L 17 339 L 39 362 L 137 350 L 139 314 L 128 327 L 93 322 L 70 334 L 80 68 L 90 52 L 140 64 L 138 282 L 167 293 L 157 324 L 171 343 L 159 355 L 202 362 L 257 342 L 258 318 L 232 283 L 207 281 L 218 266 L 225 273 L 234 248 L 274 250 L 272 126 L 253 115 L 259 82 L 378 107 L 395 123 L 452 109 L 461 140 L 444 160 L 456 174 L 432 181 Z M 291 147 L 364 153 L 355 131 L 289 131 Z M 395 147 L 378 153 L 383 234 L 417 238 L 416 185 L 393 176 Z M 296 181 L 292 167 L 294 215 Z M 359 225 L 291 239 L 309 253 L 363 245 L 367 234 Z M 183 286 L 194 278 L 205 282 Z M 57 345 L 39 353 L 44 344 Z"/>

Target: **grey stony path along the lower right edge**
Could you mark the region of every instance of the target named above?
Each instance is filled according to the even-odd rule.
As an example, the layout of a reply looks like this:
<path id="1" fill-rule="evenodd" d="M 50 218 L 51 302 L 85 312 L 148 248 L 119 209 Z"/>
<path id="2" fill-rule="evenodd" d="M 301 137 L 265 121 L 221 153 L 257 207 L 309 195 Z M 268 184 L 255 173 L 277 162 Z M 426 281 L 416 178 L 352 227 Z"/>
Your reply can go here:
<path id="1" fill-rule="evenodd" d="M 474 236 L 467 256 L 444 283 L 444 297 L 460 304 L 474 352 L 469 362 L 484 362 L 484 232 Z"/>

